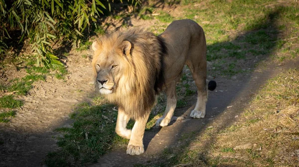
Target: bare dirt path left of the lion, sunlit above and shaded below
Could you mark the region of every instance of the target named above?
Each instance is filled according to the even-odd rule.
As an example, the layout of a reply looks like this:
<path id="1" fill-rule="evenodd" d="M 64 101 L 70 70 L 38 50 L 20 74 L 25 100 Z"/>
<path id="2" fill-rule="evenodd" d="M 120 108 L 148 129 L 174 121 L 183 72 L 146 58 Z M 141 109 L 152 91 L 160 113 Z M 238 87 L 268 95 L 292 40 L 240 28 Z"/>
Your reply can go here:
<path id="1" fill-rule="evenodd" d="M 70 56 L 65 80 L 47 76 L 35 83 L 24 106 L 9 123 L 0 124 L 0 166 L 38 167 L 50 151 L 57 149 L 53 130 L 70 126 L 69 113 L 77 103 L 90 97 L 93 86 L 89 61 L 73 62 Z"/>

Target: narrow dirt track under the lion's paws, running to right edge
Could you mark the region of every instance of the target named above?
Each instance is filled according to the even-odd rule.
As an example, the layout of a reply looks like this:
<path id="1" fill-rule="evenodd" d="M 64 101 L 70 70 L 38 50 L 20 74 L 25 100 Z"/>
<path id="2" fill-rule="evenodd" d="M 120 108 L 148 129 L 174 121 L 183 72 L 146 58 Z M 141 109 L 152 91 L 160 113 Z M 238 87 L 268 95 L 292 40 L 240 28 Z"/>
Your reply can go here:
<path id="1" fill-rule="evenodd" d="M 265 82 L 276 76 L 284 69 L 299 66 L 299 58 L 277 66 L 268 64 L 263 71 L 254 71 L 252 74 L 238 79 L 217 77 L 217 91 L 209 92 L 207 113 L 205 118 L 193 119 L 188 115 L 194 109 L 196 97 L 191 97 L 187 106 L 176 110 L 175 116 L 184 119 L 171 121 L 170 125 L 154 129 L 145 133 L 144 144 L 146 152 L 140 156 L 129 156 L 126 149 L 110 152 L 99 159 L 97 164 L 90 167 L 133 167 L 135 164 L 146 165 L 148 162 L 160 161 L 158 154 L 165 148 L 179 147 L 184 134 L 194 132 L 201 134 L 208 127 L 213 126 L 217 131 L 223 130 L 238 121 L 239 115 L 252 100 L 252 97 Z M 213 140 L 201 141 L 203 146 L 213 143 Z M 190 148 L 192 145 L 190 146 Z"/>

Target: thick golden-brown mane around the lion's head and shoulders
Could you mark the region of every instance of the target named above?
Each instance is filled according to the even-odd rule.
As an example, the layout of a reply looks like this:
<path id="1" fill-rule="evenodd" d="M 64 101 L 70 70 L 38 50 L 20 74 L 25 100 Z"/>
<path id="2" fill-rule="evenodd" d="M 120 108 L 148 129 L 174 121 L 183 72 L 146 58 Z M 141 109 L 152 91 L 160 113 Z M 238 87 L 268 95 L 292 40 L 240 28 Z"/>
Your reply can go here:
<path id="1" fill-rule="evenodd" d="M 124 41 L 132 45 L 130 56 L 125 56 L 128 68 L 117 83 L 116 91 L 105 95 L 133 119 L 151 110 L 164 83 L 163 56 L 167 49 L 162 38 L 140 28 L 115 32 L 97 39 L 105 49 L 116 49 Z M 94 57 L 96 58 L 96 57 Z M 95 65 L 93 65 L 95 66 Z M 94 69 L 95 70 L 95 69 Z"/>

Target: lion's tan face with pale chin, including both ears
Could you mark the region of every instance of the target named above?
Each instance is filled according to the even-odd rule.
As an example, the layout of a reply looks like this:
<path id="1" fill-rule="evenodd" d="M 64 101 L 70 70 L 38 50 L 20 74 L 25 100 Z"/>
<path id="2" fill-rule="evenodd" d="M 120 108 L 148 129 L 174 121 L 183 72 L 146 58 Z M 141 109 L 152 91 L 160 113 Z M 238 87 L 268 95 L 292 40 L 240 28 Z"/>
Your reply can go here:
<path id="1" fill-rule="evenodd" d="M 95 88 L 101 94 L 116 92 L 120 79 L 126 71 L 123 46 L 104 47 L 98 42 L 93 43 L 94 59 L 92 62 L 95 73 Z"/>

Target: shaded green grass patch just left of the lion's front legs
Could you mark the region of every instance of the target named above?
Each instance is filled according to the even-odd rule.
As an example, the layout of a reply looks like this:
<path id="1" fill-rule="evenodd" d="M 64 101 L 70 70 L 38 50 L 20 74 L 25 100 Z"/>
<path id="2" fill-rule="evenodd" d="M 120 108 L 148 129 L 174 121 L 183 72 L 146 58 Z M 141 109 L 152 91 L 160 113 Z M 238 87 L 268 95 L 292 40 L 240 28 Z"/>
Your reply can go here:
<path id="1" fill-rule="evenodd" d="M 90 106 L 81 104 L 71 118 L 75 120 L 71 128 L 58 128 L 65 133 L 57 144 L 60 151 L 49 153 L 45 164 L 48 167 L 66 167 L 71 164 L 83 166 L 95 163 L 100 155 L 111 148 L 116 137 L 117 112 L 113 105 Z"/>

